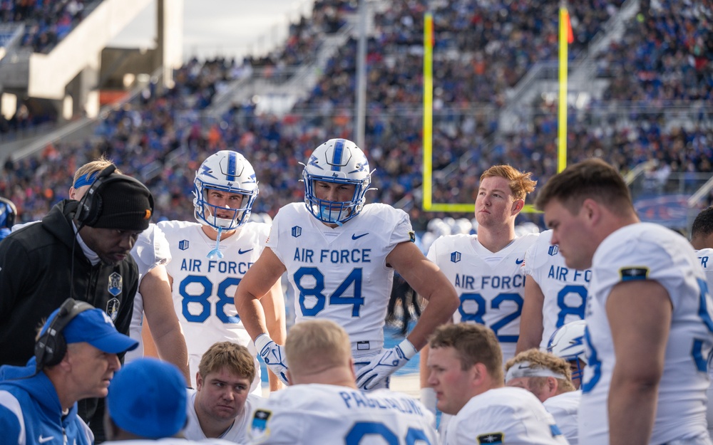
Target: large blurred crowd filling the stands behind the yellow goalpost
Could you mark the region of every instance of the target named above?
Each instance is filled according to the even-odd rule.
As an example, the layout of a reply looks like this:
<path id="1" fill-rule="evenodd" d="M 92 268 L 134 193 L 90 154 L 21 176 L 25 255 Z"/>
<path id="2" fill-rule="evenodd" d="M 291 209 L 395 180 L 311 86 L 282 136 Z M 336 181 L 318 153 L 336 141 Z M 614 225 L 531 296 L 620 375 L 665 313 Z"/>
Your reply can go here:
<path id="1" fill-rule="evenodd" d="M 496 2 L 487 8 L 463 2 L 439 5 L 434 10 L 436 53 L 442 55 L 437 57 L 434 70 L 434 201 L 471 199 L 480 172 L 498 162 L 518 165 L 542 182 L 556 171 L 555 104 L 544 100 L 534 103 L 532 127 L 504 134 L 498 131 L 498 106 L 503 104 L 505 88 L 513 83 L 498 86 L 498 82 L 507 78 L 515 82 L 533 62 L 553 54 L 556 22 L 551 17 L 555 12 L 535 14 L 528 2 Z M 588 40 L 618 6 L 618 2 L 598 1 L 572 6 L 576 36 L 570 52 L 573 57 L 585 50 Z M 627 100 L 627 106 L 635 107 L 630 112 L 622 112 L 622 108 L 612 112 L 610 100 L 593 100 L 583 110 L 570 108 L 570 162 L 607 156 L 626 172 L 641 162 L 657 159 L 659 174 L 710 171 L 712 135 L 710 126 L 704 125 L 709 111 L 702 110 L 700 125 L 671 125 L 661 113 L 643 111 L 645 106 L 667 105 L 662 98 L 617 93 L 651 90 L 649 78 L 653 76 L 658 79 L 654 83 L 661 85 L 657 90 L 680 90 L 675 85 L 665 87 L 678 82 L 686 86 L 682 91 L 688 92 L 687 100 L 701 98 L 702 92 L 709 98 L 713 68 L 710 62 L 701 61 L 712 60 L 705 46 L 712 39 L 704 38 L 710 28 L 710 8 L 678 2 L 669 6 L 642 2 L 642 12 L 629 23 L 623 43 L 612 43 L 611 51 L 599 56 L 600 75 L 613 77 L 605 97 Z M 369 39 L 365 147 L 377 167 L 374 186 L 378 190 L 370 192 L 375 201 L 395 203 L 420 198 L 421 56 L 417 49 L 422 25 L 417 18 L 424 10 L 421 2 L 392 2 L 376 14 L 376 35 Z M 309 21 L 294 24 L 286 46 L 275 54 L 284 56 L 284 66 L 303 61 L 319 44 L 319 33 L 329 30 L 327 23 L 332 22 L 327 18 L 349 12 L 344 2 L 320 2 Z M 643 34 L 656 36 L 662 49 L 651 53 L 652 40 L 641 37 Z M 483 36 L 498 42 L 496 47 L 473 44 L 473 39 L 477 42 Z M 693 58 L 693 66 L 672 63 L 696 52 L 703 56 Z M 448 56 L 454 53 L 458 58 Z M 299 192 L 276 192 L 294 190 L 292 172 L 297 162 L 303 162 L 325 136 L 352 134 L 356 42 L 340 48 L 309 97 L 284 117 L 256 115 L 250 103 L 235 104 L 217 120 L 205 119 L 201 111 L 246 66 L 269 66 L 282 56 L 250 63 L 190 61 L 176 73 L 173 90 L 156 95 L 148 89 L 139 100 L 109 113 L 98 125 L 93 141 L 73 146 L 78 150 L 48 146 L 39 159 L 6 164 L 0 193 L 18 203 L 22 219 L 36 219 L 63 196 L 63 190 L 53 185 L 61 177 L 58 170 L 71 172 L 77 163 L 106 152 L 131 174 L 141 174 L 147 165 L 158 166 L 158 174 L 146 178 L 157 195 L 157 215 L 185 218 L 190 216 L 190 206 L 182 204 L 180 197 L 190 193 L 190 172 L 196 167 L 196 159 L 220 148 L 235 147 L 251 159 L 263 178 L 257 200 L 259 211 L 274 215 L 282 204 L 301 199 Z M 641 62 L 624 63 L 630 56 L 638 56 L 635 60 Z M 519 74 L 506 75 L 510 72 Z M 626 80 L 626 88 L 620 88 L 620 79 Z M 629 101 L 634 98 L 641 100 Z M 173 156 L 180 153 L 185 160 L 171 162 L 171 152 Z M 466 162 L 453 164 L 463 155 Z M 80 159 L 76 161 L 76 157 Z M 449 164 L 456 166 L 451 174 L 437 172 Z"/>

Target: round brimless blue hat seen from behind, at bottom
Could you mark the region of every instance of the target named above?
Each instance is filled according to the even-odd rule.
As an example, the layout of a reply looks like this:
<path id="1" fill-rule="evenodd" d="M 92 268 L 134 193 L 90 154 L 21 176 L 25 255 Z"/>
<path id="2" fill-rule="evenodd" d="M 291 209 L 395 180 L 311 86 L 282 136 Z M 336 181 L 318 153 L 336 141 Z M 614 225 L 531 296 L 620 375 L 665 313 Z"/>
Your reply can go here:
<path id="1" fill-rule="evenodd" d="M 106 397 L 116 426 L 145 439 L 178 434 L 186 424 L 187 403 L 178 368 L 154 358 L 140 358 L 118 370 Z"/>

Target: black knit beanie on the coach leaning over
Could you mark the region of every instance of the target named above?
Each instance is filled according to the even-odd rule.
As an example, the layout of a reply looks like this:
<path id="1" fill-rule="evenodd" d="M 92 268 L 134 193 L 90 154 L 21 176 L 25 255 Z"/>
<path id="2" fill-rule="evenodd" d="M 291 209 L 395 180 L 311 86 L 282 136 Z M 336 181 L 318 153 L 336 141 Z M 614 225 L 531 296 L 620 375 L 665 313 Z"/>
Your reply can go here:
<path id="1" fill-rule="evenodd" d="M 153 214 L 153 197 L 143 184 L 134 181 L 112 181 L 104 184 L 95 197 L 99 217 L 98 229 L 144 231 Z"/>

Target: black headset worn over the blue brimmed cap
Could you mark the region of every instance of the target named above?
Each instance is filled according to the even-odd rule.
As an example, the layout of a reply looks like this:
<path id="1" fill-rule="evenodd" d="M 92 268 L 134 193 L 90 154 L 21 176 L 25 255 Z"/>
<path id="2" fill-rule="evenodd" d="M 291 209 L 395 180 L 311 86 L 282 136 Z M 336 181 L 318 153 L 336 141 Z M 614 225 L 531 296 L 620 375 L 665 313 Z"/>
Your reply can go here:
<path id="1" fill-rule="evenodd" d="M 47 330 L 35 343 L 35 359 L 38 371 L 42 370 L 43 367 L 54 366 L 62 361 L 67 353 L 67 342 L 64 339 L 64 335 L 62 335 L 62 331 L 79 313 L 93 308 L 93 305 L 74 298 L 64 300 Z"/>

